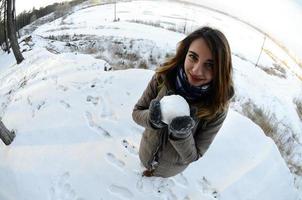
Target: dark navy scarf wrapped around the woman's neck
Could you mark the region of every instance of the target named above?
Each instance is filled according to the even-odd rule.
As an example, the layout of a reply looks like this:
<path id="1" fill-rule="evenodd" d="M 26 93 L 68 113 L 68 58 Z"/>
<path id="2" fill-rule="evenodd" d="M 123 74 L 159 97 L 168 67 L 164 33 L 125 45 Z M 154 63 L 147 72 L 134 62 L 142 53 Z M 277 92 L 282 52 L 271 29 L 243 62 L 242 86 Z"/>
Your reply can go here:
<path id="1" fill-rule="evenodd" d="M 175 78 L 176 93 L 183 96 L 189 102 L 207 100 L 210 97 L 211 83 L 192 86 L 190 85 L 184 67 L 178 67 Z"/>

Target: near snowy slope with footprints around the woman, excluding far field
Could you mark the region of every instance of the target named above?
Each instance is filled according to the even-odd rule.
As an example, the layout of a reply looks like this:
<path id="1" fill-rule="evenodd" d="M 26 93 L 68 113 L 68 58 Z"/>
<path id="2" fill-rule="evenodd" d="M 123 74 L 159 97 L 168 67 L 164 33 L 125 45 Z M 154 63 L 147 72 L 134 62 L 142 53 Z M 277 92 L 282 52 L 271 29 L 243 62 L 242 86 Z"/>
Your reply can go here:
<path id="1" fill-rule="evenodd" d="M 0 144 L 0 199 L 297 199 L 273 141 L 234 111 L 184 173 L 142 177 L 131 111 L 154 72 L 38 48 L 26 58 L 1 77 L 3 121 L 17 136 Z"/>

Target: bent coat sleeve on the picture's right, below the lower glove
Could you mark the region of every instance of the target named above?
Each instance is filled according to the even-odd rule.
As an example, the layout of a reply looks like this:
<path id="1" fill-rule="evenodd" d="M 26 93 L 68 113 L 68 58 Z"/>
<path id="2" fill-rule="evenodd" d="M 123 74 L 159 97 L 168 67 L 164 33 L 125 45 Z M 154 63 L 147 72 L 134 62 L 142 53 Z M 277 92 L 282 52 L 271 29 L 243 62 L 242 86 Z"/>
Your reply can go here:
<path id="1" fill-rule="evenodd" d="M 171 144 L 178 152 L 184 164 L 198 160 L 205 154 L 221 128 L 226 115 L 227 111 L 222 112 L 205 125 L 197 127 L 194 136 L 191 134 L 183 140 L 170 139 Z"/>

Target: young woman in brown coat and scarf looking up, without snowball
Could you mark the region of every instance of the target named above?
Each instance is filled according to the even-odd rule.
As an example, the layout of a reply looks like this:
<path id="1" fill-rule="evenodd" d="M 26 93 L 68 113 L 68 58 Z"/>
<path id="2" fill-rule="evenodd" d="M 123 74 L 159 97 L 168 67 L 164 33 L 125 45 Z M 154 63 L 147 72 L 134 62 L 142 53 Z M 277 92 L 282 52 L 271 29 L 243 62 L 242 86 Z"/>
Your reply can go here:
<path id="1" fill-rule="evenodd" d="M 167 125 L 161 121 L 160 100 L 170 94 L 187 100 L 191 116 Z M 202 27 L 180 41 L 176 55 L 156 70 L 133 109 L 134 121 L 145 127 L 139 148 L 147 168 L 143 174 L 174 176 L 202 157 L 233 94 L 231 51 L 224 34 Z"/>

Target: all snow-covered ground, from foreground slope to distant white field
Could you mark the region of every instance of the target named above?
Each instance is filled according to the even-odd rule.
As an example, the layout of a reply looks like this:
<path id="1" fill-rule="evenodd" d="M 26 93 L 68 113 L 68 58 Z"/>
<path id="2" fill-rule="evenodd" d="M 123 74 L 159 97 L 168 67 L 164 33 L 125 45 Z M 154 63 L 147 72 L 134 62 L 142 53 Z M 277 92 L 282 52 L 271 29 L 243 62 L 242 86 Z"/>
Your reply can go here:
<path id="1" fill-rule="evenodd" d="M 293 171 L 302 165 L 302 123 L 293 103 L 302 95 L 302 69 L 269 39 L 255 67 L 263 35 L 219 13 L 135 1 L 118 3 L 120 21 L 113 22 L 113 9 L 81 9 L 40 26 L 20 65 L 0 52 L 1 117 L 17 132 L 10 146 L 0 144 L 0 199 L 301 199 L 301 177 L 294 183 L 286 164 Z M 151 22 L 158 27 L 142 24 Z M 141 177 L 143 128 L 131 112 L 154 72 L 104 69 L 130 61 L 137 68 L 142 59 L 153 69 L 185 37 L 164 28 L 190 32 L 202 25 L 230 41 L 235 102 L 204 158 L 173 178 Z M 94 57 L 82 54 L 91 48 Z M 281 152 L 286 162 L 237 112 L 249 102 L 273 113 L 278 137 L 292 149 L 287 157 Z"/>

